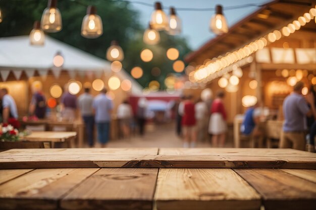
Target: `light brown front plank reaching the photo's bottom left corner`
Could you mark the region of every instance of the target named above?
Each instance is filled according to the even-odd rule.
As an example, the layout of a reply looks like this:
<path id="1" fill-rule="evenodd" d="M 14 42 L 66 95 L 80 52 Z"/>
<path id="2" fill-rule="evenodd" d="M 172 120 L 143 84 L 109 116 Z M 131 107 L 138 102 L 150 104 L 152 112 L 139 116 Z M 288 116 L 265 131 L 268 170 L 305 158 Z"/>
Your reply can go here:
<path id="1" fill-rule="evenodd" d="M 0 209 L 56 209 L 69 190 L 99 169 L 36 169 L 0 185 Z"/>

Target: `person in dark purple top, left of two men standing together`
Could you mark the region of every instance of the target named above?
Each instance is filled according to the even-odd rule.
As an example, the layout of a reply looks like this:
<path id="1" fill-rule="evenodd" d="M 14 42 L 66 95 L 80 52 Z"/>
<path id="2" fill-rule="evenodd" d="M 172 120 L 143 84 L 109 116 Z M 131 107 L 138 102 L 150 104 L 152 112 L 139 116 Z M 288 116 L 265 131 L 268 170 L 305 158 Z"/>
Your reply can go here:
<path id="1" fill-rule="evenodd" d="M 73 121 L 76 118 L 77 97 L 68 91 L 68 85 L 64 87 L 61 97 L 61 111 L 64 120 Z"/>

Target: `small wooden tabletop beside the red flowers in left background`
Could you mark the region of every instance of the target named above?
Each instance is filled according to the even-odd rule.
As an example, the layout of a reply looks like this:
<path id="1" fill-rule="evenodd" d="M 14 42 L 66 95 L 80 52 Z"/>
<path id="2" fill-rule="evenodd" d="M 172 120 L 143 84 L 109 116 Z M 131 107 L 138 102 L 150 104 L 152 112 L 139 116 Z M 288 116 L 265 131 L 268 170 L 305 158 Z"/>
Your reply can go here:
<path id="1" fill-rule="evenodd" d="M 50 141 L 64 142 L 69 138 L 75 137 L 77 132 L 59 132 L 59 131 L 32 131 L 31 134 L 23 136 L 22 139 L 28 141 Z"/>

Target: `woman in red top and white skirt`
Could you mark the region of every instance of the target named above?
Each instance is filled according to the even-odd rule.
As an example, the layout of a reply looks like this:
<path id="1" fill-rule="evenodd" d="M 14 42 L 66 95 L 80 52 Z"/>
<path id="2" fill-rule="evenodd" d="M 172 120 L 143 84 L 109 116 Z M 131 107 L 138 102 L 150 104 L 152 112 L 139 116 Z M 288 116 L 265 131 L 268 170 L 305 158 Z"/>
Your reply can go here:
<path id="1" fill-rule="evenodd" d="M 226 124 L 226 111 L 223 103 L 225 93 L 218 91 L 216 98 L 210 108 L 210 118 L 208 124 L 208 132 L 213 134 L 212 136 L 212 147 L 224 147 L 225 145 L 225 133 L 227 131 Z"/>

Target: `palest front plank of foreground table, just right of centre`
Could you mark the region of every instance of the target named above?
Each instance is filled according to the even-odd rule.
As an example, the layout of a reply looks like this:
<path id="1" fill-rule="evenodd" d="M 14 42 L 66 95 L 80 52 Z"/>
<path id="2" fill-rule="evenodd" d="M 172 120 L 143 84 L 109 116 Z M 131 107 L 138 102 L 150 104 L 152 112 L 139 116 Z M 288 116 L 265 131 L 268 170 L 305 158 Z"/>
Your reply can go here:
<path id="1" fill-rule="evenodd" d="M 259 209 L 259 194 L 231 169 L 160 169 L 157 210 Z"/>

